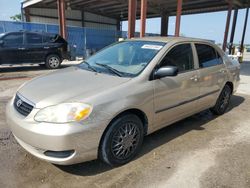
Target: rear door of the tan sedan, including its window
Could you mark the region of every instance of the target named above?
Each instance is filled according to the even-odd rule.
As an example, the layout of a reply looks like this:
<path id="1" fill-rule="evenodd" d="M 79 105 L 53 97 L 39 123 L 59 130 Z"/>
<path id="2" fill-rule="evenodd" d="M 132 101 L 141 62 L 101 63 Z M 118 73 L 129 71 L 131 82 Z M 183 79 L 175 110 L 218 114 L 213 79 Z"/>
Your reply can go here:
<path id="1" fill-rule="evenodd" d="M 195 44 L 199 61 L 200 100 L 202 109 L 215 105 L 226 81 L 226 66 L 216 49 L 208 44 Z"/>

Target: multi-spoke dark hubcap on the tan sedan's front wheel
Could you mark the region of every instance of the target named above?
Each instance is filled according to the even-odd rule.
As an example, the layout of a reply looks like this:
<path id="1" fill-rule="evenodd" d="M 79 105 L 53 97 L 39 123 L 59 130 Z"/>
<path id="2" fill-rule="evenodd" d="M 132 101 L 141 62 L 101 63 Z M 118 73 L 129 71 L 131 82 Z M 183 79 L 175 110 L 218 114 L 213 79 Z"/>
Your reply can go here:
<path id="1" fill-rule="evenodd" d="M 137 148 L 140 131 L 134 123 L 126 123 L 114 134 L 112 139 L 112 153 L 118 159 L 126 159 Z"/>

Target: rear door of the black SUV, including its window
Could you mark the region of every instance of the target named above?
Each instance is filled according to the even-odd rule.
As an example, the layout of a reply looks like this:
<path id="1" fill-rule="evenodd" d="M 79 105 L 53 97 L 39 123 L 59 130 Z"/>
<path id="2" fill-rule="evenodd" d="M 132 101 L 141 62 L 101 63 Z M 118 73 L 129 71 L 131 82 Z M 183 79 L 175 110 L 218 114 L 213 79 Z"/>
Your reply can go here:
<path id="1" fill-rule="evenodd" d="M 25 33 L 25 61 L 42 62 L 45 60 L 43 36 L 39 33 Z"/>

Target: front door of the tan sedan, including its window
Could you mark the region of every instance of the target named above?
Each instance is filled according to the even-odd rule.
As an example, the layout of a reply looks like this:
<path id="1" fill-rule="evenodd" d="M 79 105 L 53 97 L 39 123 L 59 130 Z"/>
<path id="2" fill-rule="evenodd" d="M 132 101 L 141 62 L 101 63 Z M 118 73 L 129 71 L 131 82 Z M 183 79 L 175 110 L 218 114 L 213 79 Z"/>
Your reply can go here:
<path id="1" fill-rule="evenodd" d="M 154 129 L 157 130 L 192 114 L 199 96 L 199 79 L 189 43 L 174 46 L 162 60 L 162 66 L 177 66 L 176 77 L 154 80 Z"/>

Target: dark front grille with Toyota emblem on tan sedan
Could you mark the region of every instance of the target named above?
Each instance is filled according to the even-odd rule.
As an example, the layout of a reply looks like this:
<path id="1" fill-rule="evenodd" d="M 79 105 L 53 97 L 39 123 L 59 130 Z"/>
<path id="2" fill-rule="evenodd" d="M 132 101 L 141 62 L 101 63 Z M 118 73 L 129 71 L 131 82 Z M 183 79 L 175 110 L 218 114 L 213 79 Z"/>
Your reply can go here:
<path id="1" fill-rule="evenodd" d="M 16 111 L 18 111 L 20 114 L 22 114 L 25 117 L 28 116 L 34 108 L 34 106 L 25 102 L 18 95 L 16 95 L 14 99 L 14 107 Z"/>

